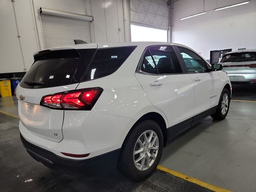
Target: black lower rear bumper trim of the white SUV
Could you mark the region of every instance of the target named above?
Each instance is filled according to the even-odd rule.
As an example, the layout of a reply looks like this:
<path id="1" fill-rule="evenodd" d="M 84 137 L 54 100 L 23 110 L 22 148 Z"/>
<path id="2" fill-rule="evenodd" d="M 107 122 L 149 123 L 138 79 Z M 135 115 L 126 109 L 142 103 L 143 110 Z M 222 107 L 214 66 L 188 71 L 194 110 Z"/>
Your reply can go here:
<path id="1" fill-rule="evenodd" d="M 75 166 L 75 167 L 91 167 L 96 164 L 100 164 L 101 162 L 116 162 L 118 160 L 120 149 L 108 152 L 106 154 L 102 154 L 99 156 L 95 156 L 89 159 L 77 160 L 77 159 L 69 159 L 60 157 L 53 152 L 40 148 L 27 140 L 20 134 L 20 139 L 22 141 L 23 146 L 26 148 L 28 154 L 32 156 L 38 162 L 42 162 L 46 166 Z"/>

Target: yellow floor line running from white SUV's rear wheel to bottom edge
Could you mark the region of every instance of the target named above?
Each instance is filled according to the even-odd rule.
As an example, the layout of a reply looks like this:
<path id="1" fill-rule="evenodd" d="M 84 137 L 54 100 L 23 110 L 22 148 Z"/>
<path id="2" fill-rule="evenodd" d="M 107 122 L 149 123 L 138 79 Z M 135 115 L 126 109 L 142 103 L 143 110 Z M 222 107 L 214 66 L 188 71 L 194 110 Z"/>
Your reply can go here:
<path id="1" fill-rule="evenodd" d="M 204 181 L 201 181 L 201 180 L 198 180 L 196 178 L 192 178 L 190 176 L 187 176 L 187 175 L 184 175 L 182 173 L 179 173 L 177 171 L 174 171 L 174 170 L 170 170 L 164 166 L 161 166 L 161 165 L 158 165 L 157 166 L 157 169 L 158 170 L 161 170 L 161 171 L 164 171 L 168 174 L 171 174 L 173 176 L 176 176 L 178 178 L 181 178 L 181 179 L 184 179 L 188 182 L 191 182 L 191 183 L 194 183 L 194 184 L 197 184 L 199 186 L 202 186 L 204 188 L 207 188 L 209 190 L 212 190 L 212 191 L 215 191 L 215 192 L 231 192 L 230 190 L 227 190 L 227 189 L 224 189 L 224 188 L 220 188 L 220 187 L 217 187 L 217 186 L 214 186 L 212 184 L 209 184 L 209 183 L 206 183 Z"/>

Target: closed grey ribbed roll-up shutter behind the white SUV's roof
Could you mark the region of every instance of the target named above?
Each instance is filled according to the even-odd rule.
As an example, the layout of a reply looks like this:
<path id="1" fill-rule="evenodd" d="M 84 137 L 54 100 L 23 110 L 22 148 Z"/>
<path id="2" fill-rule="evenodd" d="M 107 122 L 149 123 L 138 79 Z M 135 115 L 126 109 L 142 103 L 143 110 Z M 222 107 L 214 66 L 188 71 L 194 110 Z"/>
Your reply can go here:
<path id="1" fill-rule="evenodd" d="M 90 21 L 58 16 L 58 14 L 40 14 L 45 48 L 72 45 L 74 39 L 92 42 Z"/>

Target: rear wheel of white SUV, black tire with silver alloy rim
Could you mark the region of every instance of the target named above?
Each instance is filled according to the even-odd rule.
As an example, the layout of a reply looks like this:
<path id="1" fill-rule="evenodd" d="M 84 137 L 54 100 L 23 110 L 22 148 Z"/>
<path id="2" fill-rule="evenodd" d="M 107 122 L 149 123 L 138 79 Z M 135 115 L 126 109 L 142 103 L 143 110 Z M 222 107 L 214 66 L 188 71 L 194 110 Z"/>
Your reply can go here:
<path id="1" fill-rule="evenodd" d="M 163 134 L 152 120 L 138 123 L 121 148 L 117 168 L 126 177 L 141 181 L 156 169 L 163 151 Z"/>

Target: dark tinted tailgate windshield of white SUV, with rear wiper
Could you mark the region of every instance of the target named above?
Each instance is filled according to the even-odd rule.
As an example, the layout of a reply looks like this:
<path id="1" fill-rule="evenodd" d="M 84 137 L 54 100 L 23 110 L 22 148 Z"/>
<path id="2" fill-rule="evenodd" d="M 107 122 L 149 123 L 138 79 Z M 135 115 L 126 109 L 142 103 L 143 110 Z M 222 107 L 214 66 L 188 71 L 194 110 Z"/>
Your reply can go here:
<path id="1" fill-rule="evenodd" d="M 82 74 L 78 66 L 87 68 L 96 49 L 44 50 L 34 56 L 35 62 L 26 73 L 20 86 L 23 88 L 49 88 L 74 84 Z"/>

